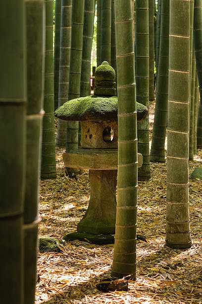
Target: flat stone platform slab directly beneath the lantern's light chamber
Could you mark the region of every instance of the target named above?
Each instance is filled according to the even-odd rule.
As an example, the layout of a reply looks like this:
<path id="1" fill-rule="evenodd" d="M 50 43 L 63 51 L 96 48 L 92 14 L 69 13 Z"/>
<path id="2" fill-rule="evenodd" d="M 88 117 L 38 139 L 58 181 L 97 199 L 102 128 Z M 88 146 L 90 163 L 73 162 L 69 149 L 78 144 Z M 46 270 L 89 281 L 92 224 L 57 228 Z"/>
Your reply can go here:
<path id="1" fill-rule="evenodd" d="M 78 149 L 77 152 L 63 153 L 65 167 L 94 169 L 94 170 L 114 170 L 117 169 L 118 153 L 116 149 Z M 143 164 L 143 156 L 138 153 L 138 167 Z"/>

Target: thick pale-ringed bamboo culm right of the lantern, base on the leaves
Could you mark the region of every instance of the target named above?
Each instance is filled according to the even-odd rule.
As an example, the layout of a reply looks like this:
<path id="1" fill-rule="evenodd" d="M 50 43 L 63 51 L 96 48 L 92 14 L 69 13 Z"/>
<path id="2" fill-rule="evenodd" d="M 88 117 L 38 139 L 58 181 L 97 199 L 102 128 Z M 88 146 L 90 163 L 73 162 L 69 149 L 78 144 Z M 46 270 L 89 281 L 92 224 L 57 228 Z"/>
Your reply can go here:
<path id="1" fill-rule="evenodd" d="M 190 1 L 170 0 L 169 40 L 165 242 L 170 248 L 188 248 L 192 245 L 189 220 Z"/>

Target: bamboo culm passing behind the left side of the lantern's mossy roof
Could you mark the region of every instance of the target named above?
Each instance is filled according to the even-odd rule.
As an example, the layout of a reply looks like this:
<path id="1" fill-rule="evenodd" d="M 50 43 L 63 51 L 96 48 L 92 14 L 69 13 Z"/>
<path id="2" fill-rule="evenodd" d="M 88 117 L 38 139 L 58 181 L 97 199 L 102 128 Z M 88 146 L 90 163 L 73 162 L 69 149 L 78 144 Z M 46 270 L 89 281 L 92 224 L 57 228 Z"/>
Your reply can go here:
<path id="1" fill-rule="evenodd" d="M 80 97 L 83 27 L 84 0 L 73 0 L 68 100 Z M 78 129 L 77 121 L 67 122 L 66 152 L 78 149 Z M 79 171 L 74 168 L 67 168 L 67 170 L 69 174 Z"/>

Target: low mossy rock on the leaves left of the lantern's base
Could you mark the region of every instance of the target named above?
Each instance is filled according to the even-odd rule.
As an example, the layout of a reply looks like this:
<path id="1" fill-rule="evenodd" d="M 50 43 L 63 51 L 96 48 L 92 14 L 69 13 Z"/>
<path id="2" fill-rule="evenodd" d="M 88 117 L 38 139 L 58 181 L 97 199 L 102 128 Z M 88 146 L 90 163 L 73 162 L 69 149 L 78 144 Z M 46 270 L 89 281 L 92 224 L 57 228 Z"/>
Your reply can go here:
<path id="1" fill-rule="evenodd" d="M 44 252 L 61 252 L 59 247 L 64 247 L 64 243 L 53 237 L 40 237 L 39 250 Z"/>

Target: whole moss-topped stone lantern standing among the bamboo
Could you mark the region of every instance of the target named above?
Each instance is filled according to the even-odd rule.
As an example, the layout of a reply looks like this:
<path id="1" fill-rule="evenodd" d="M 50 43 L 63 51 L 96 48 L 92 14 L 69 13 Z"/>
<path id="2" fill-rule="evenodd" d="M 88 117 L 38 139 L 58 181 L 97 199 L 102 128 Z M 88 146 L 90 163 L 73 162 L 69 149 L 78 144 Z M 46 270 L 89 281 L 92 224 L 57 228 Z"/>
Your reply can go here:
<path id="1" fill-rule="evenodd" d="M 64 103 L 55 116 L 81 122 L 81 147 L 66 152 L 66 167 L 89 169 L 91 198 L 78 232 L 114 234 L 116 221 L 116 178 L 118 145 L 118 98 L 115 71 L 104 61 L 95 72 L 94 95 Z M 145 119 L 148 109 L 137 103 L 137 120 Z M 142 155 L 138 155 L 139 166 Z M 72 233 L 71 233 L 72 234 Z M 75 238 L 78 238 L 76 234 Z M 88 239 L 88 235 L 84 238 Z"/>

